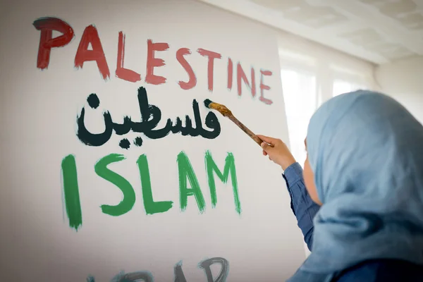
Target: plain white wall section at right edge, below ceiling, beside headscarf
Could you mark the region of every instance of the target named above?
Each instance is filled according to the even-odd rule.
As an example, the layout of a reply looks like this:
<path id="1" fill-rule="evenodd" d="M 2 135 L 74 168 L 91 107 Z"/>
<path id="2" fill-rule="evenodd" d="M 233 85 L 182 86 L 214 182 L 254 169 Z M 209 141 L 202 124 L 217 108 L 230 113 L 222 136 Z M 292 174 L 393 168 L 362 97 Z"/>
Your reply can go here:
<path id="1" fill-rule="evenodd" d="M 382 92 L 397 99 L 423 123 L 423 56 L 378 66 L 375 76 Z"/>

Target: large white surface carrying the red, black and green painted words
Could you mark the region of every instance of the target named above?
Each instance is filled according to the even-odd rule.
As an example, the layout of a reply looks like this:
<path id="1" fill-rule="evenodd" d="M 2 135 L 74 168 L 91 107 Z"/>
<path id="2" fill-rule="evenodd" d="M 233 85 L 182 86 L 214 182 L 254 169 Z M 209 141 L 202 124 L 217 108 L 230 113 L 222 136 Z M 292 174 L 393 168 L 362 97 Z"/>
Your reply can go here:
<path id="1" fill-rule="evenodd" d="M 305 255 L 280 168 L 263 157 L 262 149 L 228 118 L 203 104 L 204 99 L 225 104 L 254 132 L 288 137 L 275 30 L 192 0 L 17 0 L 3 7 L 0 24 L 11 28 L 0 30 L 0 38 L 6 39 L 0 41 L 0 112 L 5 117 L 0 133 L 0 281 L 76 282 L 92 275 L 95 281 L 105 282 L 121 271 L 151 271 L 154 281 L 166 282 L 175 281 L 174 269 L 182 267 L 190 282 L 216 281 L 220 269 L 228 281 L 271 282 L 285 281 L 296 271 Z M 32 23 L 45 16 L 66 20 L 75 37 L 66 46 L 53 48 L 49 67 L 41 71 L 37 68 L 39 40 L 50 36 L 41 37 Z M 98 44 L 91 44 L 96 58 L 109 65 L 106 80 L 94 61 L 74 67 L 80 42 L 82 51 L 90 51 L 82 38 L 87 38 L 83 37 L 87 27 L 94 28 L 91 25 L 102 43 L 102 51 Z M 64 30 L 69 34 L 69 28 Z M 121 31 L 125 33 L 125 68 L 142 75 L 140 81 L 130 82 L 115 73 L 116 64 L 121 67 L 116 63 L 118 52 L 123 54 L 118 47 L 123 46 L 118 44 Z M 155 51 L 154 60 L 147 56 L 154 52 L 147 51 L 152 50 L 147 39 L 166 42 L 169 48 Z M 178 84 L 188 81 L 177 60 L 180 48 L 192 51 L 186 60 L 196 73 L 197 84 L 190 90 Z M 221 54 L 221 59 L 214 60 L 213 76 L 209 71 L 213 68 L 208 67 L 212 64 L 200 48 Z M 228 58 L 235 70 L 240 62 L 251 84 L 250 70 L 255 68 L 255 95 L 253 87 L 241 83 L 243 92 L 238 94 L 235 70 L 233 86 L 228 87 Z M 159 85 L 146 82 L 148 66 L 154 64 L 154 74 L 167 78 Z M 157 110 L 153 114 L 145 109 L 145 99 L 140 99 L 142 108 L 138 104 L 139 87 L 146 88 L 149 104 L 157 106 L 149 109 L 160 109 L 162 118 Z M 261 90 L 273 104 L 259 99 Z M 87 103 L 92 93 L 101 101 L 97 106 Z M 139 97 L 145 97 L 142 90 Z M 194 99 L 200 103 L 199 118 L 193 114 Z M 90 146 L 90 142 L 81 142 L 77 116 L 82 116 L 82 107 L 86 113 L 82 123 L 91 133 L 114 127 L 106 143 Z M 114 124 L 105 122 L 106 111 Z M 221 123 L 220 135 L 213 140 L 202 138 L 200 125 L 206 115 L 213 118 L 215 114 L 214 121 Z M 137 125 L 126 122 L 123 117 L 127 115 Z M 166 130 L 168 135 L 155 139 L 149 126 L 140 126 L 146 120 L 142 116 L 149 116 L 147 124 L 159 119 L 157 129 L 164 128 L 167 118 L 176 122 L 180 117 L 184 127 L 190 128 L 185 115 L 195 124 L 191 137 Z M 212 120 L 208 120 L 202 126 L 210 132 Z M 124 121 L 132 131 L 125 136 L 117 134 L 115 127 Z M 123 137 L 130 140 L 128 149 L 119 146 Z M 144 140 L 140 147 L 134 144 L 137 137 Z M 213 172 L 211 162 L 206 167 L 207 151 L 226 176 Z M 119 178 L 105 170 L 103 161 L 98 162 L 110 155 L 116 164 L 108 169 Z M 147 157 L 149 168 L 142 161 Z M 72 164 L 68 160 L 73 158 Z M 119 181 L 121 185 L 122 179 L 125 196 L 114 184 Z M 173 206 L 148 210 L 146 203 L 153 205 L 149 188 L 154 201 L 172 201 Z M 125 210 L 111 214 L 104 209 L 124 199 Z M 212 258 L 226 259 L 230 271 L 223 268 L 226 264 L 221 268 L 214 264 L 214 278 L 207 278 L 199 263 Z M 178 279 L 185 281 L 180 275 Z"/>

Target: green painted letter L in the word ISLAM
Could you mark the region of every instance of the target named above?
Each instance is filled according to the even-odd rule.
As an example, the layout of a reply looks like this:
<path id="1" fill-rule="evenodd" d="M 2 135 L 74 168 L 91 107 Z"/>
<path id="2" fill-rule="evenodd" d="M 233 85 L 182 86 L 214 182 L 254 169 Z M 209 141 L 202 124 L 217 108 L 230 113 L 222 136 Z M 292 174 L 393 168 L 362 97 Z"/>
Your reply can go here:
<path id="1" fill-rule="evenodd" d="M 142 154 L 138 160 L 138 169 L 140 170 L 142 199 L 144 200 L 144 208 L 147 214 L 157 214 L 158 212 L 167 212 L 171 209 L 172 201 L 154 202 L 152 183 L 149 178 L 149 168 L 147 156 Z"/>

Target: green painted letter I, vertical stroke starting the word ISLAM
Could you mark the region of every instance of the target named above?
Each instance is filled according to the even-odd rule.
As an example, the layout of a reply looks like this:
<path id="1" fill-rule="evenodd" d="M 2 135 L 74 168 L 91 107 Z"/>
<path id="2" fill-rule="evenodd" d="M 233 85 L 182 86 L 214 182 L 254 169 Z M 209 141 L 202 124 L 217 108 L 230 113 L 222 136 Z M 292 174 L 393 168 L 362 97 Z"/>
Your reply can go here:
<path id="1" fill-rule="evenodd" d="M 75 231 L 78 231 L 78 228 L 82 226 L 82 211 L 75 156 L 69 154 L 63 158 L 61 169 L 63 175 L 64 204 L 69 219 L 69 226 L 75 229 Z"/>

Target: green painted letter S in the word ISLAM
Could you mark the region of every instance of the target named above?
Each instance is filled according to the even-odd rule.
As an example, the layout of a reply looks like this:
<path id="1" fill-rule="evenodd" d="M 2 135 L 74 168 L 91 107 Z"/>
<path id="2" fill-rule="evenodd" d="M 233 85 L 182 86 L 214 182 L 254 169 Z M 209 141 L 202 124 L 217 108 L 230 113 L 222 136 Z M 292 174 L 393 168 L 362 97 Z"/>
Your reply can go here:
<path id="1" fill-rule="evenodd" d="M 94 166 L 94 171 L 98 176 L 116 185 L 123 193 L 122 201 L 116 206 L 109 206 L 107 204 L 102 205 L 102 212 L 111 216 L 126 214 L 135 204 L 135 191 L 132 185 L 130 185 L 128 180 L 118 175 L 118 173 L 107 168 L 109 164 L 116 161 L 122 161 L 123 159 L 125 159 L 125 157 L 121 154 L 109 154 L 97 161 L 97 164 Z"/>

